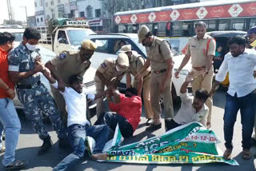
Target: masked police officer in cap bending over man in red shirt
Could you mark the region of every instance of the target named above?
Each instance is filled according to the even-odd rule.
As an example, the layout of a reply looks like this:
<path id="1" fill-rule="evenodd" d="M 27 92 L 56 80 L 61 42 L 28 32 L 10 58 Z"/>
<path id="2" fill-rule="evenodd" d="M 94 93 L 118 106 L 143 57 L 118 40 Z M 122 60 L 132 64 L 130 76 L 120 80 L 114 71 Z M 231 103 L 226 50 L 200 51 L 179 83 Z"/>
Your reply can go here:
<path id="1" fill-rule="evenodd" d="M 105 85 L 116 88 L 122 77 L 126 74 L 129 66 L 129 59 L 125 53 L 118 54 L 118 58 L 107 58 L 96 71 L 94 82 L 96 93 L 102 93 Z M 103 113 L 103 97 L 98 98 L 96 106 L 97 117 Z"/>

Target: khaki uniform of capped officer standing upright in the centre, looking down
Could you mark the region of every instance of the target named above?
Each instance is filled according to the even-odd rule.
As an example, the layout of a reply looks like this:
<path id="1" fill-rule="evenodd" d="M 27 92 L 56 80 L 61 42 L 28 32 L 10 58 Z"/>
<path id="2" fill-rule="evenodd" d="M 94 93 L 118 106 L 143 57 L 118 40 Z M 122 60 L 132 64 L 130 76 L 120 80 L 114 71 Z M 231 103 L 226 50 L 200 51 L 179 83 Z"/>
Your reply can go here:
<path id="1" fill-rule="evenodd" d="M 160 47 L 159 47 L 160 46 Z M 160 51 L 161 52 L 160 52 Z M 171 78 L 167 79 L 166 91 L 160 94 L 159 86 L 162 80 L 166 77 L 168 64 L 166 60 L 172 58 L 172 52 L 168 42 L 161 38 L 154 37 L 154 41 L 150 48 L 146 49 L 147 57 L 150 59 L 152 70 L 150 83 L 150 101 L 152 109 L 156 115 L 161 116 L 161 106 L 159 104 L 160 95 L 162 95 L 165 106 L 165 118 L 174 117 L 174 106 L 171 95 Z"/>

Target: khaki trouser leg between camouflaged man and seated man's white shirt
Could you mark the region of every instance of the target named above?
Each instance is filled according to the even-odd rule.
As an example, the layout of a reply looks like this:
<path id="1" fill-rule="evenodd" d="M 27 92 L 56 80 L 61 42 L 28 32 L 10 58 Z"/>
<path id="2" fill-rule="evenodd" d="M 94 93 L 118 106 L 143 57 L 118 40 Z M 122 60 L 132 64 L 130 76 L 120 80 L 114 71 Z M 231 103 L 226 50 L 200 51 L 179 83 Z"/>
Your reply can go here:
<path id="1" fill-rule="evenodd" d="M 66 112 L 66 102 L 64 97 L 62 96 L 61 93 L 59 93 L 58 89 L 55 89 L 53 86 L 50 85 L 51 92 L 54 95 L 54 101 L 56 102 L 58 112 L 61 115 L 62 121 L 67 123 L 67 112 Z"/>

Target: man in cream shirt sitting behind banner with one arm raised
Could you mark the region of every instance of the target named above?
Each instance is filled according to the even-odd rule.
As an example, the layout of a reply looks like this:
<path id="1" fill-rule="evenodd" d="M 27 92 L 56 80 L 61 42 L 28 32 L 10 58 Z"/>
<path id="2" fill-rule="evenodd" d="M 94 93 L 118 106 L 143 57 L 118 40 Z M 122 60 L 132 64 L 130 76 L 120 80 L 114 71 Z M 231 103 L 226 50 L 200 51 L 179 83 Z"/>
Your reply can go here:
<path id="1" fill-rule="evenodd" d="M 193 121 L 198 121 L 206 126 L 209 109 L 205 105 L 205 102 L 210 96 L 206 89 L 198 89 L 194 97 L 187 94 L 187 86 L 190 82 L 194 81 L 192 75 L 192 73 L 188 74 L 186 81 L 182 84 L 180 89 L 181 108 L 173 119 L 166 121 L 166 131 Z"/>

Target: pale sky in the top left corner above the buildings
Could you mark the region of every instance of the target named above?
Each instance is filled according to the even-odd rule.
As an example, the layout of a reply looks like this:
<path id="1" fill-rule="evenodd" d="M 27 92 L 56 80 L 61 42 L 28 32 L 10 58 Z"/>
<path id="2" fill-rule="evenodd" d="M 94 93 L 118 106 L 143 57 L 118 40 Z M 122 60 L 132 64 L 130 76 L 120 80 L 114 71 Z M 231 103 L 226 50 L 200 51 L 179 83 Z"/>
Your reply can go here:
<path id="1" fill-rule="evenodd" d="M 0 24 L 2 24 L 3 20 L 9 17 L 6 0 L 0 0 L 0 3 Z M 10 5 L 14 10 L 14 19 L 17 21 L 26 21 L 25 8 L 21 6 L 26 6 L 27 16 L 34 15 L 34 0 L 10 0 Z"/>

